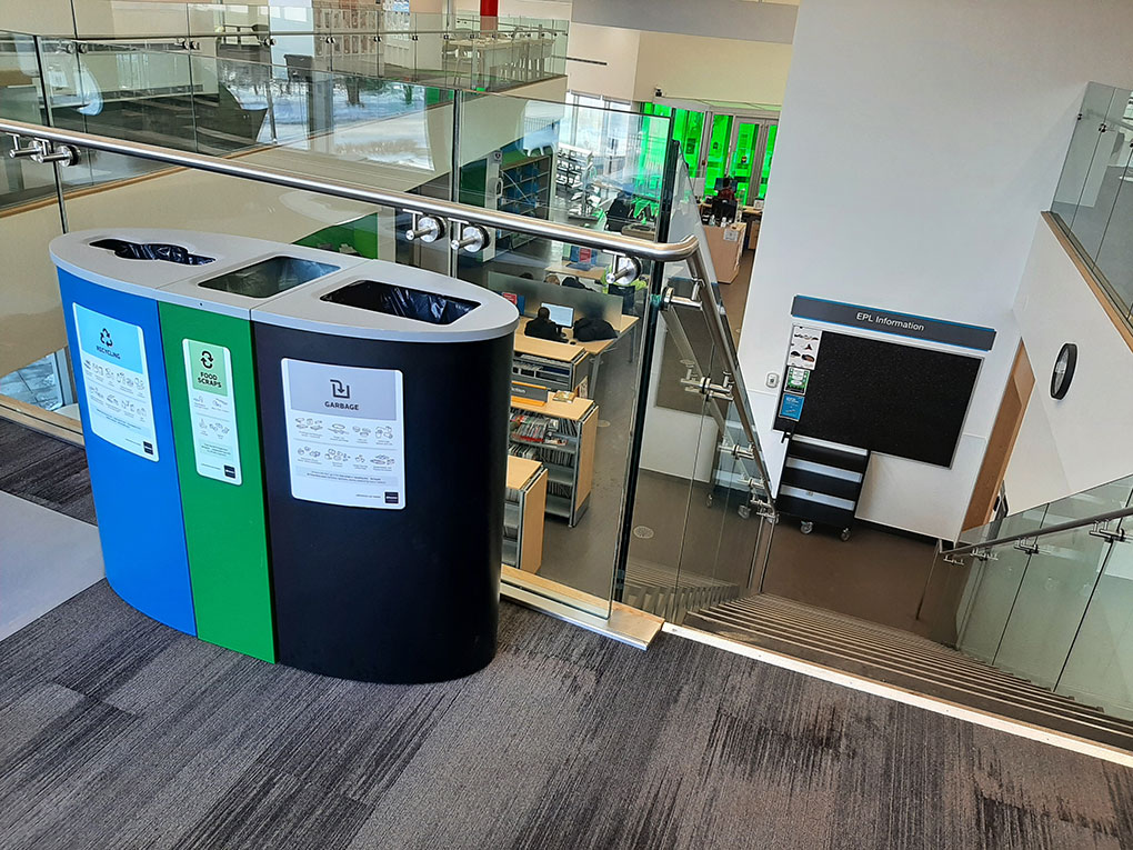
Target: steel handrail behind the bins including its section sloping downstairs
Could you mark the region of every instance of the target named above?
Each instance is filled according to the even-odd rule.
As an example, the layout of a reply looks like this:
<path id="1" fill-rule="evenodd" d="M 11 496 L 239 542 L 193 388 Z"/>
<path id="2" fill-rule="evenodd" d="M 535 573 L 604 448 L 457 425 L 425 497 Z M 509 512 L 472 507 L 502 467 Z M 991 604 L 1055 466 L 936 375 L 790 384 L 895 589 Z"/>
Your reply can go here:
<path id="1" fill-rule="evenodd" d="M 501 228 L 546 239 L 560 239 L 582 247 L 596 248 L 629 257 L 639 257 L 661 263 L 687 261 L 692 277 L 700 281 L 700 286 L 697 287 L 697 304 L 701 313 L 706 314 L 706 323 L 713 337 L 713 343 L 725 356 L 725 371 L 732 379 L 730 389 L 732 401 L 735 403 L 740 425 L 751 445 L 752 460 L 759 470 L 765 487 L 768 486 L 770 478 L 767 475 L 767 467 L 759 449 L 756 424 L 748 410 L 748 399 L 741 396 L 746 390 L 743 389 L 743 381 L 740 375 L 740 365 L 735 358 L 735 349 L 732 340 L 727 337 L 724 322 L 719 315 L 719 307 L 712 295 L 712 284 L 708 282 L 708 266 L 701 257 L 700 241 L 696 236 L 690 235 L 679 243 L 646 241 L 612 231 L 589 230 L 546 219 L 533 219 L 526 215 L 500 212 L 499 210 L 454 204 L 450 201 L 440 201 L 423 195 L 409 195 L 391 189 L 359 187 L 341 180 L 322 177 L 304 177 L 262 165 L 253 165 L 245 160 L 230 160 L 188 151 L 174 151 L 140 142 L 128 142 L 59 127 L 44 127 L 42 125 L 25 124 L 24 121 L 14 121 L 6 118 L 0 118 L 0 134 L 36 139 L 44 144 L 50 142 L 58 145 L 86 147 L 107 153 L 137 156 L 151 162 L 162 162 L 169 165 L 190 168 L 227 177 L 238 177 L 274 186 L 316 192 L 349 201 L 402 207 L 417 213 L 432 213 L 468 224 Z"/>

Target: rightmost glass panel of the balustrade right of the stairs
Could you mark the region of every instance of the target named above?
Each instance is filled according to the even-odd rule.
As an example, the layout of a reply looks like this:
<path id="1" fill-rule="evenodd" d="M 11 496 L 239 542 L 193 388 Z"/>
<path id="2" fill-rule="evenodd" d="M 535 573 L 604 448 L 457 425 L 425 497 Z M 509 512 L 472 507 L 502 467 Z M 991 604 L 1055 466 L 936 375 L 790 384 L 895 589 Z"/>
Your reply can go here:
<path id="1" fill-rule="evenodd" d="M 1133 720 L 1133 545 L 1110 546 L 1055 690 Z"/>

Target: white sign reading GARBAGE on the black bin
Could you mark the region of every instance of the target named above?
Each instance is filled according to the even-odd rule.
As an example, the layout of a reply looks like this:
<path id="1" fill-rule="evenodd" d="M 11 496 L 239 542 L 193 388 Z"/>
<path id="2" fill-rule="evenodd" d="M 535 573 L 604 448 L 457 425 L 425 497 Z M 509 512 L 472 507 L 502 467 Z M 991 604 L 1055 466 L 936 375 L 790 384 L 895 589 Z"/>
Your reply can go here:
<path id="1" fill-rule="evenodd" d="M 282 366 L 291 495 L 404 508 L 401 372 L 292 359 Z"/>

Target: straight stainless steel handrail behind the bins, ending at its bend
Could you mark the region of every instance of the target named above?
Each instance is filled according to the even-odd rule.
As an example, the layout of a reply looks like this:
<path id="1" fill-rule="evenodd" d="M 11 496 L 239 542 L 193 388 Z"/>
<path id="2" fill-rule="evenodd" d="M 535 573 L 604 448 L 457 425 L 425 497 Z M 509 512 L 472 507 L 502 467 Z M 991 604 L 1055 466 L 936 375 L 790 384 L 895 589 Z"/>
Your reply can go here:
<path id="1" fill-rule="evenodd" d="M 229 160 L 220 156 L 208 156 L 206 154 L 191 153 L 189 151 L 174 151 L 157 145 L 147 145 L 140 142 L 128 142 L 126 139 L 112 138 L 110 136 L 97 136 L 92 133 L 82 133 L 60 127 L 44 127 L 42 125 L 25 124 L 10 119 L 0 119 L 0 134 L 12 134 L 27 138 L 43 139 L 61 145 L 74 147 L 88 147 L 107 153 L 123 154 L 126 156 L 137 156 L 138 159 L 152 162 L 163 162 L 168 165 L 180 165 L 198 171 L 208 171 L 227 177 L 239 177 L 257 182 L 267 182 L 274 186 L 286 186 L 291 189 L 303 189 L 306 192 L 317 192 L 324 195 L 359 201 L 361 203 L 382 204 L 384 206 L 399 206 L 414 212 L 432 213 L 455 219 L 469 224 L 482 224 L 491 228 L 502 228 L 518 233 L 540 236 L 546 239 L 560 239 L 587 248 L 597 248 L 613 254 L 642 257 L 662 263 L 691 260 L 696 256 L 699 243 L 695 236 L 690 236 L 679 243 L 653 243 L 642 239 L 634 239 L 621 233 L 606 230 L 588 230 L 573 224 L 561 224 L 546 219 L 531 219 L 526 215 L 488 210 L 479 206 L 465 206 L 450 201 L 440 201 L 425 197 L 424 195 L 409 195 L 403 192 L 391 189 L 380 189 L 372 187 L 360 187 L 341 180 L 332 180 L 323 177 L 304 177 L 300 175 L 279 171 L 262 165 L 253 165 L 244 160 Z"/>

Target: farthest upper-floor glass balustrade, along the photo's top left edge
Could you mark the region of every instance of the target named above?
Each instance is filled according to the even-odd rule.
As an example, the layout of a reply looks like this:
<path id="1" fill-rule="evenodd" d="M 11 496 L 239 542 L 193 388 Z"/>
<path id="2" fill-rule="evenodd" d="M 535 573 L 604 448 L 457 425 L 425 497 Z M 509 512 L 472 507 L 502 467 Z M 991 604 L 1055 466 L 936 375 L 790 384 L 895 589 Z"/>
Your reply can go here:
<path id="1" fill-rule="evenodd" d="M 50 24 L 56 18 L 44 20 Z M 485 24 L 478 15 L 395 12 L 349 5 L 103 0 L 76 3 L 66 28 L 37 34 L 79 40 L 83 49 L 107 42 L 145 50 L 164 40 L 170 50 L 246 59 L 300 75 L 337 70 L 504 91 L 562 78 L 566 32 L 565 20 L 501 17 Z"/>

